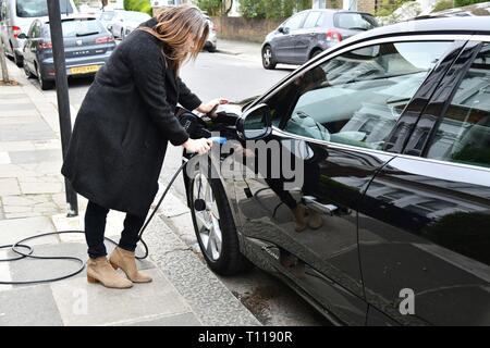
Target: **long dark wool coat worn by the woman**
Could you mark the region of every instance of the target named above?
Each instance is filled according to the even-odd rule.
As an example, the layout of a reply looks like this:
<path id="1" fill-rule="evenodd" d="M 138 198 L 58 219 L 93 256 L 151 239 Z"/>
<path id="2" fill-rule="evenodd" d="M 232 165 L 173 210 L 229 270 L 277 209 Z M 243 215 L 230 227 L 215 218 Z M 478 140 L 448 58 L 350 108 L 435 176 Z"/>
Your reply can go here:
<path id="1" fill-rule="evenodd" d="M 61 173 L 76 192 L 105 208 L 147 214 L 168 141 L 188 139 L 175 107 L 201 103 L 162 49 L 150 34 L 133 32 L 99 70 L 76 116 Z"/>

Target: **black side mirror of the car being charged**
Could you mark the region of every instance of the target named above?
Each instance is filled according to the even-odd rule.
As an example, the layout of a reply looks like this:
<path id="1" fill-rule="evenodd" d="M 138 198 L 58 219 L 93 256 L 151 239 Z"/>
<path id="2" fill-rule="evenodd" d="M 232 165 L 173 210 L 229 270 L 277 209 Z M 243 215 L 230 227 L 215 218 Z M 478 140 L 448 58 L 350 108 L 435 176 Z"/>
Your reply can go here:
<path id="1" fill-rule="evenodd" d="M 272 133 L 270 108 L 261 103 L 242 114 L 236 121 L 236 133 L 244 140 L 258 140 Z"/>

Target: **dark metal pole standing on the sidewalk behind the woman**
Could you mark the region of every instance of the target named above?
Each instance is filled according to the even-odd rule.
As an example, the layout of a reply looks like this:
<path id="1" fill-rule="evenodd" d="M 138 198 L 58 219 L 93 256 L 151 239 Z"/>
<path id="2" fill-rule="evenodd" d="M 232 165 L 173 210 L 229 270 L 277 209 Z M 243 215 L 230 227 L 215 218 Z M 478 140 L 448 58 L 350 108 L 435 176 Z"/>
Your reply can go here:
<path id="1" fill-rule="evenodd" d="M 48 0 L 49 29 L 51 32 L 52 55 L 54 59 L 54 72 L 58 98 L 58 114 L 60 117 L 61 148 L 63 159 L 66 156 L 70 138 L 72 136 L 72 119 L 70 115 L 70 96 L 66 77 L 66 64 L 64 61 L 63 32 L 61 28 L 60 0 Z M 78 201 L 71 183 L 65 178 L 68 216 L 78 215 Z"/>

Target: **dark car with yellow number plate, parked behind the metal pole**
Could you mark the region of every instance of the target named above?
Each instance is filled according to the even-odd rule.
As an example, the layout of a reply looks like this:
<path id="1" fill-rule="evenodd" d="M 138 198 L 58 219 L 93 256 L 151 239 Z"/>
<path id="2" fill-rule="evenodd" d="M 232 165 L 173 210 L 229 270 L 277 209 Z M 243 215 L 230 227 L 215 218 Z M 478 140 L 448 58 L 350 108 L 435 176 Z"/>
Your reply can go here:
<path id="1" fill-rule="evenodd" d="M 114 38 L 95 17 L 76 15 L 62 20 L 64 54 L 69 76 L 95 75 L 115 48 Z M 24 45 L 24 71 L 37 76 L 41 89 L 53 87 L 56 71 L 47 20 L 35 20 Z"/>

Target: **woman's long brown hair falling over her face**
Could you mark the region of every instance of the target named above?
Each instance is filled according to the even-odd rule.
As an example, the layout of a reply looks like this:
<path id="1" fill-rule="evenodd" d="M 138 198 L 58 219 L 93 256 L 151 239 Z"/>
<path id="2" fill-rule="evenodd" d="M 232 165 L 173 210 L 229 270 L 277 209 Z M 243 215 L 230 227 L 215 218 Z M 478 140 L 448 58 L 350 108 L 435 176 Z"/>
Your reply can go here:
<path id="1" fill-rule="evenodd" d="M 171 7 L 157 15 L 158 24 L 152 28 L 142 27 L 162 42 L 163 52 L 173 61 L 173 69 L 179 74 L 184 62 L 196 59 L 203 50 L 209 34 L 209 24 L 203 12 L 189 4 Z M 186 47 L 188 38 L 195 42 L 189 51 Z"/>

